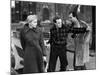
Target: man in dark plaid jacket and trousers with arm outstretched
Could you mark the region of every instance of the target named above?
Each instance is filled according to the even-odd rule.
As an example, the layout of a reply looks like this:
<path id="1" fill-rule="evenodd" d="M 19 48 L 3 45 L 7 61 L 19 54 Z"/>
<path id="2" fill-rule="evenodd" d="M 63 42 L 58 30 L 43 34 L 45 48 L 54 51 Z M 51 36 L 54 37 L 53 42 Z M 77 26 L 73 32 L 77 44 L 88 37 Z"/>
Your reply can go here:
<path id="1" fill-rule="evenodd" d="M 50 29 L 50 39 L 48 43 L 51 45 L 50 59 L 48 72 L 54 72 L 56 67 L 56 61 L 60 59 L 60 71 L 66 71 L 68 61 L 66 56 L 66 45 L 68 33 L 84 33 L 85 28 L 73 28 L 71 26 L 65 26 L 62 23 L 61 18 L 55 17 L 53 19 L 54 25 Z"/>

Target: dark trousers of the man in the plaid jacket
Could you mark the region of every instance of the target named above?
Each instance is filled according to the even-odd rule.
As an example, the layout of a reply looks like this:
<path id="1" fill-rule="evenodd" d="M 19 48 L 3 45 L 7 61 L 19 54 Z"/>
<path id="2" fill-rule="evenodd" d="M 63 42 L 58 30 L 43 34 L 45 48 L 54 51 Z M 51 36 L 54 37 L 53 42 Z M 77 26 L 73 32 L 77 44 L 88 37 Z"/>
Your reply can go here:
<path id="1" fill-rule="evenodd" d="M 48 72 L 55 71 L 58 57 L 60 59 L 60 71 L 66 71 L 66 67 L 68 65 L 66 45 L 51 45 Z"/>

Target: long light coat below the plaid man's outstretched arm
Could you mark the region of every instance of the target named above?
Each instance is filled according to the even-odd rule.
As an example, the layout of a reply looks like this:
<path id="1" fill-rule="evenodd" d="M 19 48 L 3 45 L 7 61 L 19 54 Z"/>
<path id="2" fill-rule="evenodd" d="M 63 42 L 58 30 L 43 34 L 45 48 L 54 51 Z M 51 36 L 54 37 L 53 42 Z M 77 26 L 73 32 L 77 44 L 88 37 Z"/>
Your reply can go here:
<path id="1" fill-rule="evenodd" d="M 77 34 L 74 40 L 75 43 L 75 66 L 82 66 L 89 62 L 89 42 L 91 31 L 84 34 Z"/>

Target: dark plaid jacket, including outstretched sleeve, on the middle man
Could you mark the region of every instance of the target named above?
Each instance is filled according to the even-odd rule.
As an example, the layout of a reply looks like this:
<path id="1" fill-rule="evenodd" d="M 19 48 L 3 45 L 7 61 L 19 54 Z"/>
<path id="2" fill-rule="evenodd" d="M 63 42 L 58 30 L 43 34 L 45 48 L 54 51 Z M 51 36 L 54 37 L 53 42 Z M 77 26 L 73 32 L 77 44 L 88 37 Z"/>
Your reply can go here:
<path id="1" fill-rule="evenodd" d="M 67 44 L 68 33 L 79 34 L 84 32 L 86 32 L 86 28 L 72 28 L 65 25 L 62 25 L 61 28 L 56 28 L 56 26 L 54 25 L 50 29 L 50 39 L 48 43 L 64 46 Z"/>

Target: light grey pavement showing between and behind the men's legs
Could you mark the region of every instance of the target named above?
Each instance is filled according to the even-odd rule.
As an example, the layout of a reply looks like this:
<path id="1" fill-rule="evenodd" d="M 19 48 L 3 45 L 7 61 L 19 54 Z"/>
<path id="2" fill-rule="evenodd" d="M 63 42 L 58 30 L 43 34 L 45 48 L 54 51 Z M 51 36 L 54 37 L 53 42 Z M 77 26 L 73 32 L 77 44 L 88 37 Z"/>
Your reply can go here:
<path id="1" fill-rule="evenodd" d="M 49 62 L 49 53 L 50 53 L 50 50 L 48 49 L 47 51 L 47 61 Z M 67 66 L 67 69 L 66 70 L 74 70 L 73 69 L 73 57 L 74 57 L 74 53 L 72 52 L 66 52 L 66 55 L 67 55 L 67 59 L 68 59 L 68 66 Z M 93 53 L 92 53 L 93 55 Z M 95 53 L 94 53 L 94 56 L 90 56 L 90 61 L 88 63 L 86 63 L 86 68 L 87 70 L 95 70 L 96 69 L 96 56 L 95 56 Z M 57 60 L 57 63 L 56 63 L 56 71 L 59 71 L 60 69 L 60 61 L 59 61 L 59 58 Z"/>

